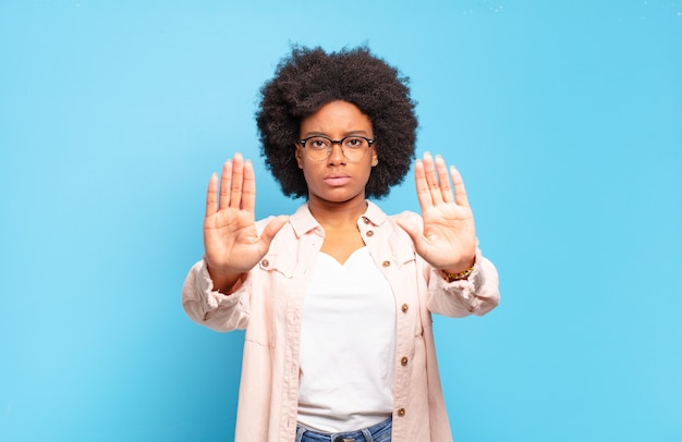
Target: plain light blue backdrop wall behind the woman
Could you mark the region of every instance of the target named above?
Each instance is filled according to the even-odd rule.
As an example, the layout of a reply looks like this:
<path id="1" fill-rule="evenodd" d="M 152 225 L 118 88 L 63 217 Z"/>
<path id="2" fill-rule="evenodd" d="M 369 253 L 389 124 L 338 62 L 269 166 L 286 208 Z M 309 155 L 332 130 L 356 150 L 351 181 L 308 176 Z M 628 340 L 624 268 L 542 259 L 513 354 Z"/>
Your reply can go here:
<path id="1" fill-rule="evenodd" d="M 289 45 L 409 75 L 502 304 L 436 319 L 455 439 L 682 441 L 680 1 L 0 1 L 0 440 L 228 441 L 243 333 L 180 306 Z M 381 202 L 418 210 L 412 176 Z"/>

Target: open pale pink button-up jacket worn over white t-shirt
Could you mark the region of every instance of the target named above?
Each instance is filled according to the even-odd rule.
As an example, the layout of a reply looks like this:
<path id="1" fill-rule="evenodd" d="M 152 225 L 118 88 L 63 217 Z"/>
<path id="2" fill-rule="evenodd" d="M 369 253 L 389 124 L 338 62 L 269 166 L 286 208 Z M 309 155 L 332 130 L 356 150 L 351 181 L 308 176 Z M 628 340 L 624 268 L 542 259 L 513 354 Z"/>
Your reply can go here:
<path id="1" fill-rule="evenodd" d="M 258 229 L 267 221 L 259 221 Z M 499 302 L 497 270 L 478 250 L 468 279 L 448 283 L 416 255 L 412 240 L 393 217 L 373 202 L 357 225 L 395 296 L 392 440 L 451 441 L 431 312 L 464 317 L 491 310 Z M 294 440 L 303 297 L 324 235 L 303 205 L 232 295 L 212 291 L 204 261 L 185 280 L 182 304 L 190 318 L 218 331 L 246 329 L 236 442 Z"/>

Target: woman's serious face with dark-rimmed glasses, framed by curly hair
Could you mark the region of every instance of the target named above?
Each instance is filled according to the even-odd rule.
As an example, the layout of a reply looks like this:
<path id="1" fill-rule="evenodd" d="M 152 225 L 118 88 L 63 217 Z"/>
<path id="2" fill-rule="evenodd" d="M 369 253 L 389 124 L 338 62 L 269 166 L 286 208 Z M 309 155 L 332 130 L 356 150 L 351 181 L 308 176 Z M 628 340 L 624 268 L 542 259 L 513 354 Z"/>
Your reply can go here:
<path id="1" fill-rule="evenodd" d="M 325 135 L 341 139 L 351 135 L 374 138 L 369 118 L 355 105 L 348 101 L 332 101 L 301 122 L 301 138 Z M 296 144 L 296 161 L 303 169 L 308 185 L 308 199 L 329 202 L 346 202 L 365 199 L 365 185 L 372 168 L 377 165 L 377 151 L 374 145 L 366 148 L 364 157 L 350 161 L 344 157 L 341 145 L 333 144 L 326 160 L 313 160 L 306 148 Z"/>

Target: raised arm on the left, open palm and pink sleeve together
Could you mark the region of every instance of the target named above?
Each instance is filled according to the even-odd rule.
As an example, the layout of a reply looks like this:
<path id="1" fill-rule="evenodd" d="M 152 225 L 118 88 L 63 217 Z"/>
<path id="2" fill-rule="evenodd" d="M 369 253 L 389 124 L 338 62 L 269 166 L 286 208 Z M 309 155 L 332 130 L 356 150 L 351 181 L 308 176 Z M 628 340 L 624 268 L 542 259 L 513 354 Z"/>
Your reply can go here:
<path id="1" fill-rule="evenodd" d="M 244 328 L 248 316 L 247 272 L 266 255 L 288 217 L 255 222 L 255 177 L 251 161 L 240 154 L 214 174 L 206 194 L 204 259 L 185 280 L 182 304 L 187 316 L 215 330 Z M 260 224 L 263 226 L 263 224 Z"/>

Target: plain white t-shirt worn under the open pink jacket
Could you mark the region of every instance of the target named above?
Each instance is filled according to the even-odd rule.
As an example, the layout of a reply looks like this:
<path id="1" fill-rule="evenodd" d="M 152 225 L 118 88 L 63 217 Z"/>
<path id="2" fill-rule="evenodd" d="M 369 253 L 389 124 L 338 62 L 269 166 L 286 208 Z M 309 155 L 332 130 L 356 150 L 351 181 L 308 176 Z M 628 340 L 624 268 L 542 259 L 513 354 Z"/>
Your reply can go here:
<path id="1" fill-rule="evenodd" d="M 395 302 L 367 247 L 341 265 L 319 253 L 303 306 L 299 422 L 324 432 L 388 419 Z"/>

